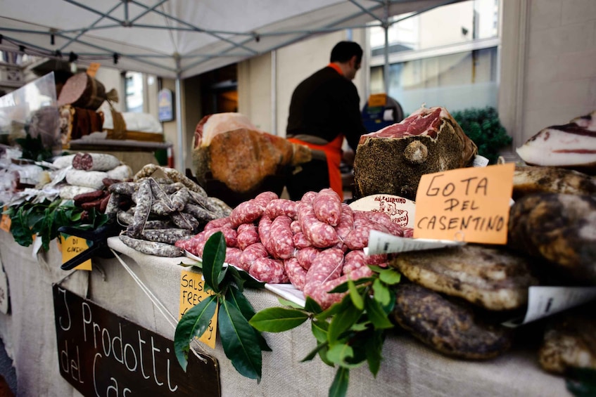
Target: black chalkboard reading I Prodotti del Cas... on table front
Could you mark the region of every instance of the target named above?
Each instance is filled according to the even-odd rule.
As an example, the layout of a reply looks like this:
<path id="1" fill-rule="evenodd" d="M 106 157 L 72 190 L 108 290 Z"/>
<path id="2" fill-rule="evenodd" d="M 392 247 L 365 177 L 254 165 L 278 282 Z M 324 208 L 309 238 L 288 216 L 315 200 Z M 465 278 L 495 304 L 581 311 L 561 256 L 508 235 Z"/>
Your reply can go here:
<path id="1" fill-rule="evenodd" d="M 53 285 L 60 373 L 84 396 L 221 396 L 217 360 L 189 353 L 186 372 L 174 342 Z"/>

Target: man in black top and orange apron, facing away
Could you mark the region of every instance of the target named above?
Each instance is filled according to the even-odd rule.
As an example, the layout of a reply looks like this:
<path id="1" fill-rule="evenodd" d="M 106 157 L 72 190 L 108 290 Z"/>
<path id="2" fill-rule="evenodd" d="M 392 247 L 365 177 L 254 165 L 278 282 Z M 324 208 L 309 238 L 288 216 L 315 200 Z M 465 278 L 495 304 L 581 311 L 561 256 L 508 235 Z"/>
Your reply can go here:
<path id="1" fill-rule="evenodd" d="M 360 115 L 360 97 L 352 83 L 362 62 L 362 48 L 340 41 L 331 50 L 331 63 L 298 84 L 292 94 L 286 138 L 312 149 L 311 162 L 300 164 L 286 188 L 291 200 L 307 191 L 331 187 L 343 200 L 339 165 L 345 137 L 356 151 L 367 131 Z"/>

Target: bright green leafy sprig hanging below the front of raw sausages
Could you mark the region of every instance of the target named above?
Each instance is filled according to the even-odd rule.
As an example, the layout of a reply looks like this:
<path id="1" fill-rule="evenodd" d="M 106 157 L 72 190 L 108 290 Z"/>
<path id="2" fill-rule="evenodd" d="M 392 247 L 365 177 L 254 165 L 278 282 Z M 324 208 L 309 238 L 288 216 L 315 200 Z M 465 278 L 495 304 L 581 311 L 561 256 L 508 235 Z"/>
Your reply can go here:
<path id="1" fill-rule="evenodd" d="M 368 363 L 376 376 L 381 367 L 381 355 L 386 331 L 394 327 L 389 315 L 395 305 L 391 287 L 400 282 L 400 273 L 391 268 L 369 266 L 373 275 L 360 280 L 348 280 L 331 292 L 348 292 L 342 301 L 322 310 L 307 298 L 301 308 L 288 306 L 266 308 L 256 313 L 250 324 L 263 332 L 283 332 L 311 320 L 311 331 L 317 346 L 304 359 L 319 356 L 331 367 L 337 365 L 329 396 L 345 396 L 350 381 L 350 369 Z"/>

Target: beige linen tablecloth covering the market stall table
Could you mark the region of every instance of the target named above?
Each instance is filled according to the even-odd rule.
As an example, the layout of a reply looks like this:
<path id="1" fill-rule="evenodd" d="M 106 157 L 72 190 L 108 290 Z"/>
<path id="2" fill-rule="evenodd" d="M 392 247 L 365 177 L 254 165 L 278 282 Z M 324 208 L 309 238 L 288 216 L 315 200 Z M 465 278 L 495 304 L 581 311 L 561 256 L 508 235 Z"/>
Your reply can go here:
<path id="1" fill-rule="evenodd" d="M 171 313 L 179 310 L 181 259 L 148 256 L 129 249 L 117 237 L 108 245 Z M 0 337 L 13 359 L 18 396 L 80 396 L 59 372 L 52 284 L 87 297 L 108 311 L 173 340 L 175 327 L 160 313 L 139 284 L 115 258 L 94 259 L 94 269 L 62 271 L 61 254 L 32 254 L 12 235 L 0 232 L 0 259 L 8 277 L 11 311 L 0 313 Z M 186 263 L 191 263 L 187 259 Z M 245 289 L 256 311 L 279 305 L 265 289 Z M 335 369 L 317 357 L 300 363 L 315 347 L 310 324 L 289 332 L 265 333 L 272 348 L 262 355 L 262 380 L 242 377 L 225 357 L 219 338 L 215 350 L 222 396 L 326 396 Z M 440 355 L 402 332 L 386 339 L 381 370 L 375 377 L 366 365 L 350 370 L 348 396 L 569 396 L 562 377 L 540 369 L 535 349 L 516 348 L 494 360 L 474 362 Z M 177 365 L 177 363 L 174 363 Z M 217 382 L 214 379 L 213 382 Z M 197 393 L 201 391 L 197 390 Z"/>

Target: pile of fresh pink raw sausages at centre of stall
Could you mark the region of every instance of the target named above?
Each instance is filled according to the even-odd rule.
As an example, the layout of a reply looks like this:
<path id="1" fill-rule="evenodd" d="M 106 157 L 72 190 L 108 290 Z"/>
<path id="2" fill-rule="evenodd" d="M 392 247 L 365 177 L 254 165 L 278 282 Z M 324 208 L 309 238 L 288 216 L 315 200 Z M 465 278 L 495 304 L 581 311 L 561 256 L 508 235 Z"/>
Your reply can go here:
<path id="1" fill-rule="evenodd" d="M 370 230 L 404 237 L 388 214 L 353 210 L 331 189 L 296 202 L 265 192 L 175 245 L 202 256 L 208 238 L 221 231 L 227 263 L 264 282 L 291 282 L 326 308 L 343 297 L 329 290 L 371 275 L 366 265 L 386 266 L 386 255 L 364 254 Z"/>

